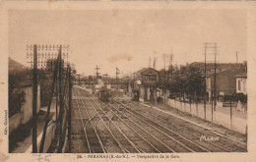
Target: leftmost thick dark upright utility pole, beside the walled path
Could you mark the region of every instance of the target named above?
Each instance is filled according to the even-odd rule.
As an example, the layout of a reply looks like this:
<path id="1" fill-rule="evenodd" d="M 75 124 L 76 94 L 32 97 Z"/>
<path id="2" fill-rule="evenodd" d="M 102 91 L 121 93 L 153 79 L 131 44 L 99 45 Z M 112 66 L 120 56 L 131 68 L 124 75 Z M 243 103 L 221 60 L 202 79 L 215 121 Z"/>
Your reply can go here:
<path id="1" fill-rule="evenodd" d="M 32 153 L 37 153 L 37 45 L 33 45 L 33 70 L 32 70 Z"/>

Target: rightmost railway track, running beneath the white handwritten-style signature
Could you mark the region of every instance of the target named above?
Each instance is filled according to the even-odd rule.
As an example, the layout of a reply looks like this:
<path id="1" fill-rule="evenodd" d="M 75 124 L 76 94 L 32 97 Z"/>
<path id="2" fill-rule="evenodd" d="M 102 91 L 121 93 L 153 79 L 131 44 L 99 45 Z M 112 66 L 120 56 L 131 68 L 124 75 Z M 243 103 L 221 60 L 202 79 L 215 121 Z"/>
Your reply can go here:
<path id="1" fill-rule="evenodd" d="M 206 136 L 216 136 L 216 134 L 204 128 L 200 128 L 191 123 L 182 121 L 178 118 L 173 118 L 170 115 L 160 113 L 160 117 L 156 117 L 156 112 L 149 108 L 143 108 L 140 106 L 140 110 L 131 109 L 131 106 L 125 105 L 121 102 L 115 102 L 126 107 L 127 111 L 137 115 L 137 117 L 149 120 L 151 123 L 155 123 L 157 126 L 164 127 L 166 130 L 173 132 L 174 134 L 186 137 L 188 140 L 198 143 L 198 145 L 207 148 L 211 152 L 244 152 L 245 144 L 240 141 L 235 141 L 234 139 L 229 139 L 221 135 L 220 140 L 215 141 L 199 141 L 201 135 Z M 152 119 L 147 118 L 147 116 L 152 117 Z M 159 122 L 156 122 L 159 121 Z"/>

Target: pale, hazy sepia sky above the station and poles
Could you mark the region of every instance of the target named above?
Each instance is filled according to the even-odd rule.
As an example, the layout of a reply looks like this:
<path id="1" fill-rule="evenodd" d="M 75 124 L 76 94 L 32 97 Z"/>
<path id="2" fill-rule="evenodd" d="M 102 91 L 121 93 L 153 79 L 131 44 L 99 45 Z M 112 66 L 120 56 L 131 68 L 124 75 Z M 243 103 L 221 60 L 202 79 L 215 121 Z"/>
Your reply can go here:
<path id="1" fill-rule="evenodd" d="M 149 67 L 162 55 L 173 64 L 204 61 L 203 43 L 217 42 L 217 62 L 246 61 L 244 10 L 10 10 L 9 56 L 26 64 L 27 44 L 69 44 L 69 61 L 81 75 L 121 76 Z M 168 59 L 166 66 L 168 65 Z M 214 55 L 207 56 L 213 62 Z"/>

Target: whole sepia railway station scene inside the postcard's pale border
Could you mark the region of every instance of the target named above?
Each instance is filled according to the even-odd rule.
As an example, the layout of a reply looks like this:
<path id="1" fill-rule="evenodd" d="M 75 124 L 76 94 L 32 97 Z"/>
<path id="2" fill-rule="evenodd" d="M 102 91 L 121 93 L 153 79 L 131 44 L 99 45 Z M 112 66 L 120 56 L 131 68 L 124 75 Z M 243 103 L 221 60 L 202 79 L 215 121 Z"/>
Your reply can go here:
<path id="1" fill-rule="evenodd" d="M 247 151 L 244 10 L 10 10 L 10 153 Z"/>

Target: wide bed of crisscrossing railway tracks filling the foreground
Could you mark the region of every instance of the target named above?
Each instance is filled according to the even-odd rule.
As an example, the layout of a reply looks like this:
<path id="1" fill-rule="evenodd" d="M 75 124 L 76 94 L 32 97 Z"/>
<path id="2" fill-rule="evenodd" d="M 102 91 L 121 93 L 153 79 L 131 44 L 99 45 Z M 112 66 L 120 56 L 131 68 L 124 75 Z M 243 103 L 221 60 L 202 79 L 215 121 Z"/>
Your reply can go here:
<path id="1" fill-rule="evenodd" d="M 229 136 L 139 102 L 101 102 L 74 87 L 74 153 L 245 152 L 244 136 Z"/>

